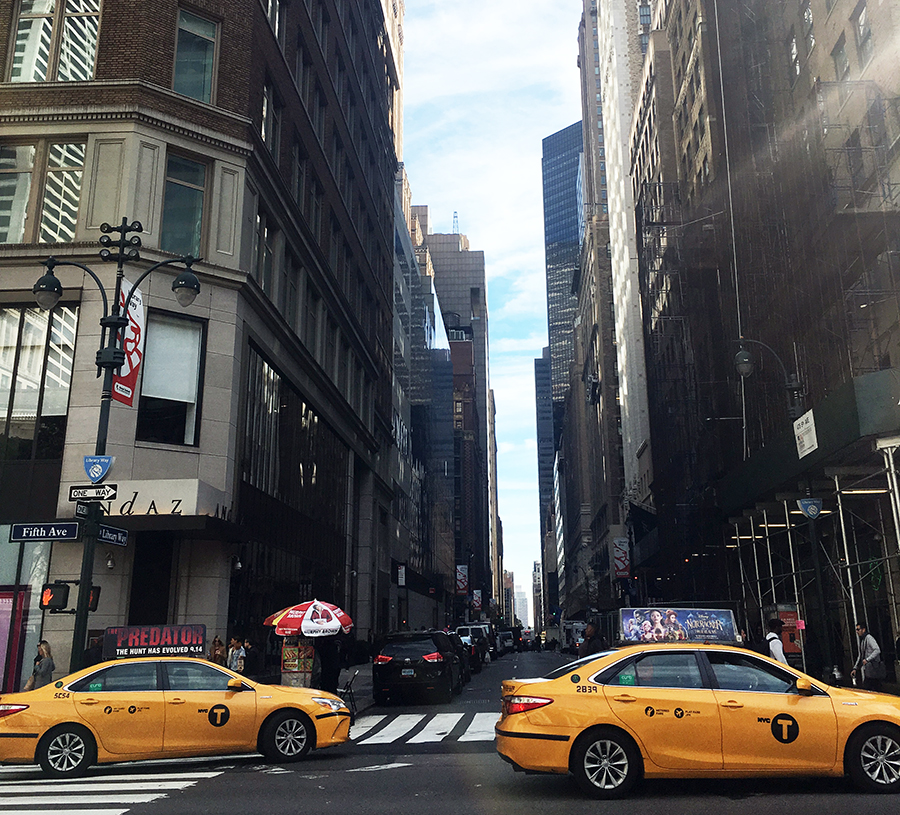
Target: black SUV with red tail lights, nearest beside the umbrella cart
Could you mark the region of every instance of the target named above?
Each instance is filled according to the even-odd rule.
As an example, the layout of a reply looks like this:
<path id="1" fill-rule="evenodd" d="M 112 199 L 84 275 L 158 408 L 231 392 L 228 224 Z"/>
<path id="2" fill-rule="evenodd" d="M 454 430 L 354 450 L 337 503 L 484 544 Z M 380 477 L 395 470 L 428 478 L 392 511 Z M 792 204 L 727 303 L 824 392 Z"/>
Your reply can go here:
<path id="1" fill-rule="evenodd" d="M 388 634 L 372 663 L 372 696 L 383 705 L 389 696 L 425 691 L 449 702 L 462 691 L 462 666 L 443 631 Z"/>

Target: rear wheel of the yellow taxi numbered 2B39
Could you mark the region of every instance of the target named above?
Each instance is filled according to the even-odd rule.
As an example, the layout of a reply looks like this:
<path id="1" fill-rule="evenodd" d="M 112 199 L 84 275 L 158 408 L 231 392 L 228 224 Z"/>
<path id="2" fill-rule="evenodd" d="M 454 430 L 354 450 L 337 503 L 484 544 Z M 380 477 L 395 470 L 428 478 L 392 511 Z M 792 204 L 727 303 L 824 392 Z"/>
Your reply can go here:
<path id="1" fill-rule="evenodd" d="M 575 742 L 570 769 L 578 786 L 588 795 L 621 798 L 640 778 L 641 756 L 624 733 L 597 728 Z"/>

